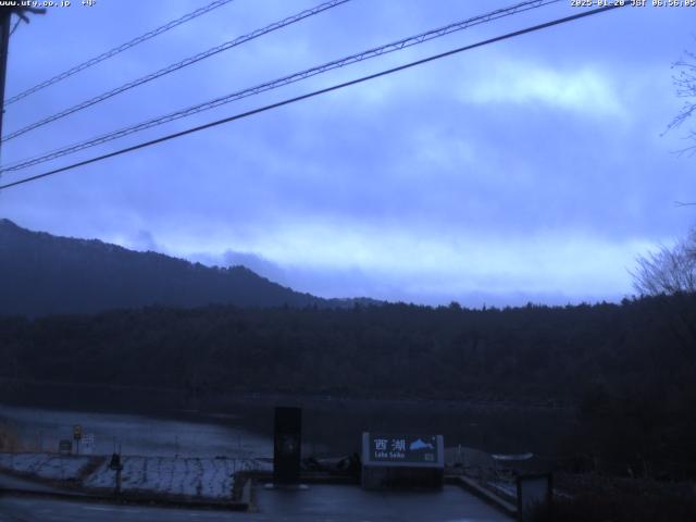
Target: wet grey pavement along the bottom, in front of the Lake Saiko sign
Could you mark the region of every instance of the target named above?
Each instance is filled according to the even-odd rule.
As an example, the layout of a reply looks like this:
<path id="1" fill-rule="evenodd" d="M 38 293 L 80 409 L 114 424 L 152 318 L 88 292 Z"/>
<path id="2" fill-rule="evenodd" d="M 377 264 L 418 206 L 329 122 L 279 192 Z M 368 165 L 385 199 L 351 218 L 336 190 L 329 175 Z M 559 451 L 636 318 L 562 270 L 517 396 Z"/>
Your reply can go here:
<path id="1" fill-rule="evenodd" d="M 349 486 L 259 489 L 258 512 L 163 509 L 0 497 L 0 522 L 509 522 L 457 486 L 440 493 L 381 494 Z"/>

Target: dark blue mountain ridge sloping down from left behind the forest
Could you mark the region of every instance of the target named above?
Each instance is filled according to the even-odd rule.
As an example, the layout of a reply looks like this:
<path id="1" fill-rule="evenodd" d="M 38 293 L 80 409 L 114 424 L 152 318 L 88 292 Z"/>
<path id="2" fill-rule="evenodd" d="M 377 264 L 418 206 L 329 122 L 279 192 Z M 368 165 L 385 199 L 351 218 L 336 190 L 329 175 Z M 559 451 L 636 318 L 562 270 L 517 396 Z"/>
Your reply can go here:
<path id="1" fill-rule="evenodd" d="M 194 308 L 347 308 L 372 299 L 322 299 L 245 266 L 210 268 L 98 239 L 58 237 L 0 220 L 0 314 L 92 313 L 161 304 Z"/>

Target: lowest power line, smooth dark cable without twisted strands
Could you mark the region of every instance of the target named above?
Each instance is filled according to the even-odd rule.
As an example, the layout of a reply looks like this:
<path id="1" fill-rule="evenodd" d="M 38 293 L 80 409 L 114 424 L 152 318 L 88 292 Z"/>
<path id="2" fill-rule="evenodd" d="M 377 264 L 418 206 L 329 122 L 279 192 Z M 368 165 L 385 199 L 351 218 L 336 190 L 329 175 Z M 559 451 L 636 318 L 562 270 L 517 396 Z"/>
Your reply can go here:
<path id="1" fill-rule="evenodd" d="M 517 37 L 517 36 L 525 35 L 527 33 L 533 33 L 533 32 L 536 32 L 536 30 L 545 29 L 545 28 L 548 28 L 548 27 L 551 27 L 551 26 L 555 26 L 555 25 L 564 24 L 567 22 L 571 22 L 571 21 L 574 21 L 574 20 L 584 18 L 586 16 L 591 16 L 591 15 L 594 15 L 594 14 L 604 13 L 606 11 L 611 11 L 613 9 L 622 8 L 622 7 L 625 7 L 625 5 L 630 5 L 630 4 L 616 3 L 616 4 L 612 4 L 612 5 L 608 5 L 608 7 L 604 7 L 604 8 L 599 8 L 599 9 L 593 9 L 591 11 L 582 11 L 582 12 L 580 12 L 577 14 L 573 14 L 571 16 L 566 16 L 566 17 L 562 17 L 562 18 L 552 20 L 550 22 L 546 22 L 546 23 L 543 23 L 543 24 L 538 24 L 538 25 L 534 25 L 534 26 L 531 26 L 531 27 L 526 27 L 524 29 L 519 29 L 519 30 L 515 30 L 513 33 L 507 33 L 507 34 L 501 35 L 501 36 L 496 36 L 494 38 L 488 38 L 487 40 L 482 40 L 482 41 L 478 41 L 476 44 L 471 44 L 469 46 L 459 47 L 457 49 L 452 49 L 452 50 L 449 50 L 449 51 L 446 51 L 446 52 L 442 52 L 439 54 L 433 54 L 431 57 L 423 58 L 423 59 L 417 60 L 414 62 L 409 62 L 407 64 L 399 65 L 397 67 L 388 69 L 388 70 L 385 70 L 385 71 L 381 71 L 378 73 L 370 74 L 368 76 L 362 76 L 360 78 L 351 79 L 349 82 L 344 82 L 341 84 L 336 84 L 336 85 L 333 85 L 331 87 L 325 87 L 323 89 L 319 89 L 319 90 L 314 90 L 312 92 L 308 92 L 308 94 L 304 94 L 304 95 L 296 96 L 294 98 L 288 98 L 286 100 L 278 101 L 278 102 L 275 102 L 275 103 L 271 103 L 269 105 L 260 107 L 260 108 L 253 109 L 251 111 L 241 112 L 241 113 L 235 114 L 233 116 L 224 117 L 222 120 L 217 120 L 217 121 L 210 122 L 210 123 L 207 123 L 207 124 L 203 124 L 203 125 L 198 125 L 196 127 L 187 128 L 186 130 L 181 130 L 178 133 L 170 134 L 167 136 L 162 136 L 160 138 L 152 139 L 152 140 L 149 140 L 149 141 L 144 141 L 144 142 L 140 142 L 138 145 L 134 145 L 132 147 L 126 147 L 126 148 L 116 150 L 114 152 L 109 152 L 107 154 L 98 156 L 96 158 L 90 158 L 89 160 L 84 160 L 84 161 L 79 161 L 77 163 L 73 163 L 71 165 L 62 166 L 60 169 L 54 169 L 52 171 L 45 172 L 42 174 L 37 174 L 35 176 L 25 177 L 23 179 L 18 179 L 16 182 L 8 183 L 5 185 L 0 185 L 0 190 L 7 189 L 7 188 L 10 188 L 10 187 L 15 187 L 17 185 L 22 185 L 22 184 L 25 184 L 25 183 L 34 182 L 34 181 L 37 181 L 37 179 L 41 179 L 44 177 L 52 176 L 54 174 L 59 174 L 61 172 L 70 171 L 70 170 L 76 169 L 78 166 L 88 165 L 90 163 L 96 163 L 98 161 L 102 161 L 102 160 L 105 160 L 105 159 L 109 159 L 109 158 L 113 158 L 113 157 L 116 157 L 116 156 L 125 154 L 127 152 L 133 152 L 133 151 L 138 150 L 138 149 L 150 147 L 152 145 L 161 144 L 163 141 L 169 141 L 170 139 L 178 138 L 181 136 L 186 136 L 188 134 L 194 134 L 194 133 L 197 133 L 199 130 L 203 130 L 206 128 L 215 127 L 215 126 L 219 126 L 219 125 L 222 125 L 222 124 L 225 124 L 225 123 L 234 122 L 236 120 L 241 120 L 244 117 L 252 116 L 254 114 L 259 114 L 261 112 L 266 112 L 266 111 L 270 111 L 272 109 L 277 109 L 279 107 L 288 105 L 290 103 L 295 103 L 295 102 L 298 102 L 298 101 L 301 101 L 301 100 L 307 100 L 309 98 L 314 98 L 316 96 L 324 95 L 324 94 L 327 94 L 327 92 L 332 92 L 334 90 L 339 90 L 339 89 L 343 89 L 345 87 L 349 87 L 349 86 L 352 86 L 352 85 L 361 84 L 361 83 L 368 82 L 370 79 L 375 79 L 375 78 L 378 78 L 378 77 L 382 77 L 382 76 L 394 74 L 394 73 L 397 73 L 399 71 L 405 71 L 407 69 L 411 69 L 411 67 L 414 67 L 414 66 L 418 66 L 418 65 L 422 65 L 424 63 L 433 62 L 435 60 L 439 60 L 439 59 L 443 59 L 443 58 L 446 58 L 446 57 L 451 57 L 453 54 L 458 54 L 458 53 L 463 52 L 463 51 L 469 51 L 471 49 L 475 49 L 475 48 L 478 48 L 478 47 L 487 46 L 487 45 L 495 44 L 495 42 L 498 42 L 498 41 L 501 41 L 501 40 L 507 40 L 509 38 L 513 38 L 513 37 Z"/>

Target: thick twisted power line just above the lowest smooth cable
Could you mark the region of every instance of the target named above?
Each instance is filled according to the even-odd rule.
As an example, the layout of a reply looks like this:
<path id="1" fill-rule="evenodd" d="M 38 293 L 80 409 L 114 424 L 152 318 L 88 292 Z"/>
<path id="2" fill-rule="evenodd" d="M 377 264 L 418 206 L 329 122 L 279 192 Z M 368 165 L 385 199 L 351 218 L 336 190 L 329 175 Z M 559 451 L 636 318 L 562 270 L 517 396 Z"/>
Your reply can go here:
<path id="1" fill-rule="evenodd" d="M 0 167 L 0 174 L 3 172 L 13 172 L 22 169 L 26 169 L 28 166 L 33 166 L 39 163 L 45 163 L 50 160 L 54 160 L 61 158 L 63 156 L 67 156 L 74 152 L 78 152 L 80 150 L 96 147 L 98 145 L 105 144 L 108 141 L 112 141 L 114 139 L 122 138 L 124 136 L 138 133 L 140 130 L 145 130 L 158 125 L 162 125 L 164 123 L 173 122 L 175 120 L 181 120 L 183 117 L 190 116 L 192 114 L 197 114 L 199 112 L 203 112 L 210 109 L 214 109 L 216 107 L 231 103 L 233 101 L 240 100 L 243 98 L 247 98 L 249 96 L 259 95 L 261 92 L 265 92 L 269 90 L 273 90 L 289 84 L 294 84 L 296 82 L 300 82 L 302 79 L 307 79 L 309 77 L 325 73 L 327 71 L 332 71 L 334 69 L 344 67 L 347 65 L 351 65 L 353 63 L 358 63 L 364 60 L 369 60 L 375 57 L 380 57 L 383 54 L 387 54 L 389 52 L 399 51 L 401 49 L 412 47 L 415 45 L 423 44 L 425 41 L 440 38 L 443 36 L 449 35 L 451 33 L 465 29 L 468 27 L 472 27 L 474 25 L 492 22 L 494 20 L 502 18 L 506 16 L 511 16 L 513 14 L 519 14 L 521 12 L 530 11 L 532 9 L 538 9 L 551 3 L 558 3 L 561 0 L 527 0 L 522 3 L 518 3 L 515 5 L 511 5 L 509 8 L 498 9 L 496 11 L 492 11 L 489 13 L 474 16 L 471 18 L 467 18 L 464 21 L 456 22 L 444 27 L 439 27 L 436 29 L 431 29 L 425 33 L 421 33 L 415 36 L 409 36 L 407 38 L 402 38 L 397 41 L 393 41 L 390 44 L 376 47 L 373 49 L 369 49 L 366 51 L 362 51 L 356 54 L 351 54 L 349 57 L 345 57 L 338 60 L 334 60 L 328 63 L 324 63 L 323 65 L 319 65 L 315 67 L 308 69 L 306 71 L 301 71 L 299 73 L 294 73 L 288 76 L 284 76 L 282 78 L 277 78 L 271 82 L 266 82 L 261 85 L 257 85 L 254 87 L 249 87 L 243 89 L 237 92 L 233 92 L 231 95 L 225 95 L 220 98 L 215 98 L 213 100 L 207 101 L 204 103 L 199 103 L 197 105 L 188 107 L 186 109 L 178 110 L 176 112 L 172 112 L 162 116 L 158 116 L 151 120 L 147 120 L 136 125 L 132 125 L 129 127 L 124 127 L 112 133 L 98 136 L 96 138 L 88 139 L 86 141 L 80 141 L 77 144 L 73 144 L 66 147 L 62 147 L 60 149 L 55 149 L 51 152 L 37 156 L 34 158 L 29 158 L 27 160 L 21 160 L 11 165 L 4 165 Z"/>

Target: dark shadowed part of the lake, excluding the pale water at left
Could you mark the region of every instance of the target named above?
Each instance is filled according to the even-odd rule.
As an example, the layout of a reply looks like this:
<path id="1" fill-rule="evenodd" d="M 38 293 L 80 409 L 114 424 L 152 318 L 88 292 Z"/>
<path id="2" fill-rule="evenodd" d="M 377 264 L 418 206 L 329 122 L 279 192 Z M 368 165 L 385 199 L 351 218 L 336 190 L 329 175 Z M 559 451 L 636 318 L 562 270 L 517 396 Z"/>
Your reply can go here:
<path id="1" fill-rule="evenodd" d="M 394 400 L 254 391 L 194 400 L 174 389 L 8 380 L 0 380 L 0 390 L 1 402 L 7 406 L 215 424 L 271 439 L 274 407 L 296 406 L 303 411 L 306 444 L 319 453 L 334 455 L 359 451 L 363 431 L 432 432 L 444 435 L 448 444 L 490 452 L 555 455 L 558 442 L 576 418 L 569 407 L 495 400 Z"/>

